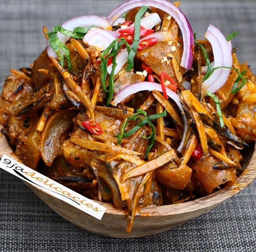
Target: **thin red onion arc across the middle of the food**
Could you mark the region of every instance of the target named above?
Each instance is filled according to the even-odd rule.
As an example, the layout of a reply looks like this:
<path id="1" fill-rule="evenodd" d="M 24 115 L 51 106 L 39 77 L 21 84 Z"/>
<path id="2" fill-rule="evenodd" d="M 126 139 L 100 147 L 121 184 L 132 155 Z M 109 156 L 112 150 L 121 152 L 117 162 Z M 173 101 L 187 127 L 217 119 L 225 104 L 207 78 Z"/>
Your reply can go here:
<path id="1" fill-rule="evenodd" d="M 119 92 L 117 92 L 117 94 L 114 96 L 113 100 L 110 103 L 113 106 L 117 106 L 117 104 L 123 101 L 127 96 L 137 93 L 139 91 L 145 91 L 145 90 L 148 90 L 148 91 L 158 90 L 162 92 L 162 87 L 160 84 L 155 82 L 148 82 L 148 81 L 137 82 L 135 84 L 128 85 L 124 87 L 122 90 L 120 90 Z M 180 97 L 178 97 L 178 95 L 174 91 L 168 89 L 167 87 L 166 87 L 166 93 L 167 93 L 167 96 L 170 97 L 177 104 L 178 108 L 181 111 L 181 118 L 184 125 L 183 125 L 183 134 L 182 134 L 181 144 L 180 146 L 178 146 L 178 149 L 177 149 L 177 151 L 181 152 L 181 150 L 185 145 L 186 132 L 188 130 L 187 118 L 185 116 L 185 112 L 180 103 Z"/>

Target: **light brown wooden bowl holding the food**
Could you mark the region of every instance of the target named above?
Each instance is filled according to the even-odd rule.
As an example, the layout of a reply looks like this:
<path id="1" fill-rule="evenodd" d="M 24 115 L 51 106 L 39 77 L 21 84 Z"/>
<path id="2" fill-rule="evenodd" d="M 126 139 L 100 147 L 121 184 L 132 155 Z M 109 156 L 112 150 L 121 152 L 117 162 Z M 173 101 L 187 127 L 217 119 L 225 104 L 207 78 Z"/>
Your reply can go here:
<path id="1" fill-rule="evenodd" d="M 5 136 L 2 134 L 0 134 L 0 147 L 1 157 L 3 154 L 6 154 L 18 160 L 7 143 Z M 56 213 L 82 229 L 110 237 L 142 237 L 158 234 L 198 217 L 217 207 L 220 203 L 248 186 L 256 177 L 256 151 L 254 151 L 254 148 L 255 144 L 252 144 L 250 149 L 246 150 L 243 162 L 243 166 L 246 168 L 232 187 L 223 188 L 218 192 L 190 202 L 143 209 L 141 216 L 135 217 L 130 234 L 126 232 L 125 210 L 116 209 L 109 203 L 97 202 L 107 208 L 102 219 L 97 220 L 62 200 L 56 199 L 52 195 L 31 186 L 31 184 L 26 184 Z"/>

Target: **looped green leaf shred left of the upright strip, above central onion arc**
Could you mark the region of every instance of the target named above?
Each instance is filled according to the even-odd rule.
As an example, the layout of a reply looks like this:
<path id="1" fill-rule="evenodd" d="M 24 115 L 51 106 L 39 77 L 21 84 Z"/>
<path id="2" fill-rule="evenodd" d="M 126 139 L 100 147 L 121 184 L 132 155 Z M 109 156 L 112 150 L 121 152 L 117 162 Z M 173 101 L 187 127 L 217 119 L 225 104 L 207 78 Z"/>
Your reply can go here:
<path id="1" fill-rule="evenodd" d="M 113 94 L 114 94 L 114 71 L 117 67 L 116 57 L 118 52 L 120 51 L 122 45 L 125 44 L 127 47 L 127 52 L 130 52 L 130 45 L 124 38 L 117 38 L 115 39 L 104 52 L 101 53 L 101 64 L 100 64 L 100 77 L 101 77 L 101 86 L 103 92 L 107 96 L 107 105 L 110 103 Z M 106 79 L 107 79 L 107 60 L 108 58 L 113 57 L 112 59 L 112 70 L 110 74 L 110 78 L 108 81 L 108 90 L 106 86 Z"/>

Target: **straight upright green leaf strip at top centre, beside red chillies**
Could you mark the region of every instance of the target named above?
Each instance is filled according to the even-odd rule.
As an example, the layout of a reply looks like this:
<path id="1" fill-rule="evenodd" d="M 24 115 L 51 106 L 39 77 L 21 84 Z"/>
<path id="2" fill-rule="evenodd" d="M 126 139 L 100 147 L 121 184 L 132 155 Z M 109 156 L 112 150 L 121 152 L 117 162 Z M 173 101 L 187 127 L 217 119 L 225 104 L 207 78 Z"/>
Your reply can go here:
<path id="1" fill-rule="evenodd" d="M 135 57 L 135 54 L 137 52 L 137 49 L 139 47 L 139 39 L 140 39 L 140 19 L 142 18 L 142 16 L 144 15 L 144 13 L 148 10 L 148 6 L 143 5 L 139 11 L 137 12 L 136 16 L 135 16 L 135 20 L 134 20 L 134 37 L 133 37 L 133 45 L 132 45 L 132 49 L 129 52 L 128 55 L 128 65 L 126 70 L 128 72 L 132 71 L 133 69 L 133 59 Z"/>

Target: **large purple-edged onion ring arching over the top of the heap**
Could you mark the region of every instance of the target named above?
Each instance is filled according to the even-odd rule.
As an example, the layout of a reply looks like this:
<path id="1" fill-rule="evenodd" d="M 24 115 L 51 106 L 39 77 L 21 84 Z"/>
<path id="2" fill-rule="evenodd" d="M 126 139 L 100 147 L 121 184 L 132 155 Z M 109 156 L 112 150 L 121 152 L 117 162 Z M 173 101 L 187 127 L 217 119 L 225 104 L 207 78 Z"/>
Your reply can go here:
<path id="1" fill-rule="evenodd" d="M 194 46 L 194 35 L 193 30 L 188 22 L 186 16 L 181 12 L 181 10 L 174 4 L 166 0 L 130 0 L 119 5 L 114 9 L 111 14 L 107 17 L 107 20 L 113 24 L 117 18 L 119 18 L 123 13 L 132 10 L 136 7 L 142 5 L 148 5 L 160 10 L 165 11 L 171 15 L 178 23 L 183 38 L 183 54 L 181 59 L 181 66 L 186 69 L 191 69 L 193 63 L 193 46 Z"/>

